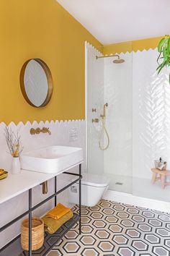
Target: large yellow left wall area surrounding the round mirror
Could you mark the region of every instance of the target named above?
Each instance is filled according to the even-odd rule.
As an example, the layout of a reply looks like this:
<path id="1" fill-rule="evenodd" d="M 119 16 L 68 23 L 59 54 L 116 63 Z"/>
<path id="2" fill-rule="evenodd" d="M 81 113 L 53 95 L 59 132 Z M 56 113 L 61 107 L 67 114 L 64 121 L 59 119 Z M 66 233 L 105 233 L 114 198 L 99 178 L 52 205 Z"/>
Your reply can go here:
<path id="1" fill-rule="evenodd" d="M 0 1 L 0 121 L 84 119 L 84 42 L 102 45 L 55 0 Z M 53 75 L 53 96 L 33 108 L 22 96 L 19 73 L 40 58 Z"/>

